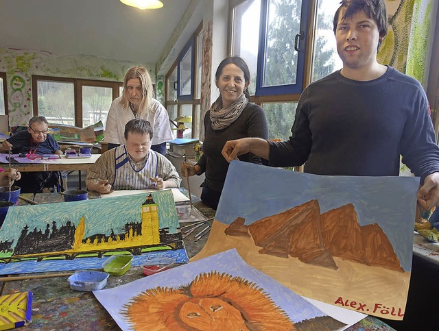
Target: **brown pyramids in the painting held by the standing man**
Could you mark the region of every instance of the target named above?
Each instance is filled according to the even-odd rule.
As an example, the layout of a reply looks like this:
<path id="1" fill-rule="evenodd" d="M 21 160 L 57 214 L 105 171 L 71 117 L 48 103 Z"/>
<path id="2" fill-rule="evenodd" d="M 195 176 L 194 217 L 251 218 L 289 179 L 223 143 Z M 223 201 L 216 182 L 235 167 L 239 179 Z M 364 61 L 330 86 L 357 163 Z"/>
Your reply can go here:
<path id="1" fill-rule="evenodd" d="M 239 229 L 239 230 L 237 230 Z M 313 199 L 285 212 L 244 225 L 238 217 L 226 234 L 248 236 L 261 254 L 299 258 L 302 262 L 337 269 L 333 256 L 403 272 L 392 244 L 377 223 L 360 226 L 353 204 L 320 214 Z"/>

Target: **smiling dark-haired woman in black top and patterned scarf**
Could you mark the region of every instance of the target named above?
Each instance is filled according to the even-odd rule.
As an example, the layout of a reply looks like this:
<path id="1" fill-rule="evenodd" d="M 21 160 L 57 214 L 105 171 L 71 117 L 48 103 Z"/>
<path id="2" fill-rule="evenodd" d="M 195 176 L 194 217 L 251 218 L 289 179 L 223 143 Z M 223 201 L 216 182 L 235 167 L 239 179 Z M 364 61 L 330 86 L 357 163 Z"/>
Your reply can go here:
<path id="1" fill-rule="evenodd" d="M 227 140 L 245 137 L 268 139 L 267 119 L 261 107 L 250 103 L 250 71 L 244 60 L 231 56 L 222 60 L 215 73 L 219 97 L 204 117 L 203 155 L 192 166 L 182 163 L 182 175 L 206 174 L 201 200 L 216 210 L 221 196 L 228 162 L 222 157 Z M 253 154 L 239 156 L 239 160 L 262 164 Z"/>

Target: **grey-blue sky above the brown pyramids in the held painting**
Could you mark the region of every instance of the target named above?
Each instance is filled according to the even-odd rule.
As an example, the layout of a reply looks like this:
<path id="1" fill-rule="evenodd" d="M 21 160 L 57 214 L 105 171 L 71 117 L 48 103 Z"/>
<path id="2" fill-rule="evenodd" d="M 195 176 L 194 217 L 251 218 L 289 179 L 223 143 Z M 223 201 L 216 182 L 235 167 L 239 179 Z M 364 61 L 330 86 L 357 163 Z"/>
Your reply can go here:
<path id="1" fill-rule="evenodd" d="M 360 225 L 378 223 L 409 271 L 419 177 L 321 176 L 230 162 L 215 219 L 251 224 L 318 199 L 320 212 L 353 204 Z"/>

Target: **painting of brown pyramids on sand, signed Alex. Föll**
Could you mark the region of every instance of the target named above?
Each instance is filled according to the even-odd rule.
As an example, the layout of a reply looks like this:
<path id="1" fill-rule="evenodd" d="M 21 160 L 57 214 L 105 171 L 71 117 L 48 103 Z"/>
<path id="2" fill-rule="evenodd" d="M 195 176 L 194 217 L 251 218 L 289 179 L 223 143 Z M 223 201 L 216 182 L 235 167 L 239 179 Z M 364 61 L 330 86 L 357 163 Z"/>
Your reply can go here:
<path id="1" fill-rule="evenodd" d="M 418 177 L 320 176 L 233 161 L 192 260 L 235 248 L 300 295 L 403 319 L 418 185 Z"/>

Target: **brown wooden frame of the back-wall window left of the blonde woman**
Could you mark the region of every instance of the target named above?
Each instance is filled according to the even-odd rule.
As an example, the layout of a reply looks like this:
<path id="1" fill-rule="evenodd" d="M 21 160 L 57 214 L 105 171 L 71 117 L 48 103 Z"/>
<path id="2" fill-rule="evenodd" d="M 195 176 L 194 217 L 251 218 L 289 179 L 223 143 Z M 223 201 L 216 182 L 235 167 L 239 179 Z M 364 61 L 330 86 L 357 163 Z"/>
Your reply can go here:
<path id="1" fill-rule="evenodd" d="M 58 82 L 58 83 L 73 83 L 73 99 L 75 114 L 75 126 L 82 127 L 83 113 L 82 113 L 82 86 L 97 86 L 112 88 L 112 100 L 119 97 L 119 87 L 123 86 L 123 82 L 112 82 L 106 80 L 95 79 L 78 79 L 70 77 L 56 77 L 56 76 L 42 76 L 32 75 L 32 108 L 34 116 L 38 116 L 38 81 L 44 82 Z M 105 123 L 104 123 L 105 125 Z"/>

